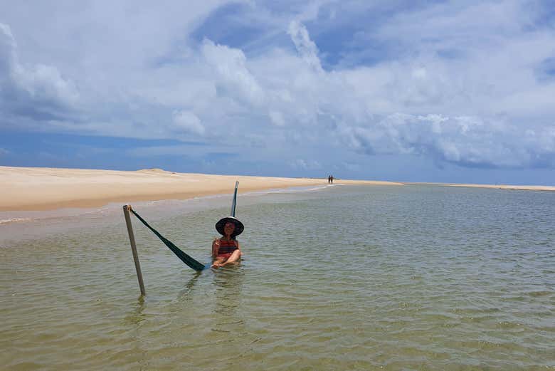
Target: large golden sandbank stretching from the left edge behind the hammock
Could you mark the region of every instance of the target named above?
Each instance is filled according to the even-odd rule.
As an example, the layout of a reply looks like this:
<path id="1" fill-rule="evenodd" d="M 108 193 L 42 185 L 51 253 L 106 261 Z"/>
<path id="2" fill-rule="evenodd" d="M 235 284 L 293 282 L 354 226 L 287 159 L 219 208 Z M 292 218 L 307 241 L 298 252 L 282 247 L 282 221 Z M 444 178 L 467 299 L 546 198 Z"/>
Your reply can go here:
<path id="1" fill-rule="evenodd" d="M 327 179 L 247 177 L 167 172 L 162 169 L 112 171 L 55 169 L 47 167 L 0 167 L 0 211 L 53 210 L 65 207 L 99 207 L 110 202 L 190 199 L 233 191 L 327 184 Z M 390 184 L 360 180 L 336 180 L 335 184 Z"/>

